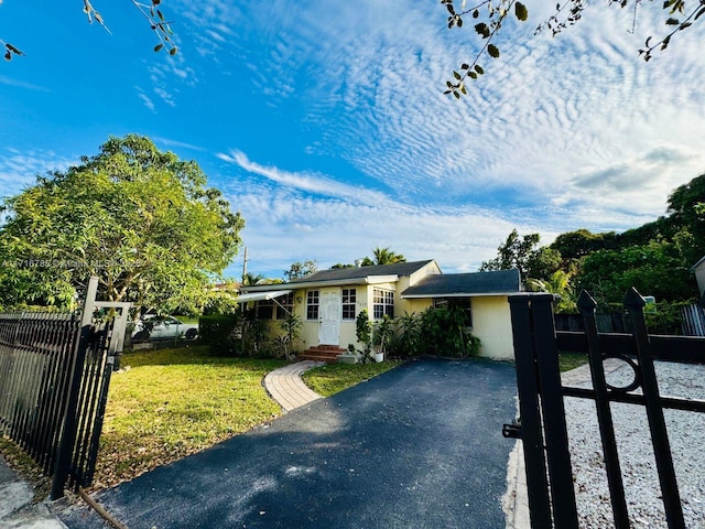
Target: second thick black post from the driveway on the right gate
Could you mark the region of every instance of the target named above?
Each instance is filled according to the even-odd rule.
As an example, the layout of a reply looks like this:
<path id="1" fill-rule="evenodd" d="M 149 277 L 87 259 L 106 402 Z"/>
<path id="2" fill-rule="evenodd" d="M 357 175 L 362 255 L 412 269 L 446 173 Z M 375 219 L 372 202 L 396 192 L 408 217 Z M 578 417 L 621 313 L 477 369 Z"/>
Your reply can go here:
<path id="1" fill-rule="evenodd" d="M 541 413 L 545 430 L 553 519 L 555 527 L 577 529 L 573 467 L 553 323 L 553 294 L 532 295 L 531 314 L 539 365 Z"/>

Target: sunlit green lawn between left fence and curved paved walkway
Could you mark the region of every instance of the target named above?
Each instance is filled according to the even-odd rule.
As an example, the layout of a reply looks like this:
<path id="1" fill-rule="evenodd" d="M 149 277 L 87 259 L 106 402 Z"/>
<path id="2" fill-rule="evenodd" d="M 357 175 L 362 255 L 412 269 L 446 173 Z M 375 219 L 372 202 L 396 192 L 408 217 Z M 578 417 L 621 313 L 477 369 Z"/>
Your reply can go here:
<path id="1" fill-rule="evenodd" d="M 285 364 L 210 357 L 203 347 L 123 355 L 110 382 L 95 486 L 132 478 L 278 417 L 262 378 Z"/>

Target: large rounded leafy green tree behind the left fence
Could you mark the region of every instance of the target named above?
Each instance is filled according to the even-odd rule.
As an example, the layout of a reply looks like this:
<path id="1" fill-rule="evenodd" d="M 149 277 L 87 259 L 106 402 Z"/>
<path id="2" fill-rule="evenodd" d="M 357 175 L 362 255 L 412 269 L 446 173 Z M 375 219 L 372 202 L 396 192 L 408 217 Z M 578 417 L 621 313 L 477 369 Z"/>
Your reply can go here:
<path id="1" fill-rule="evenodd" d="M 110 301 L 171 310 L 204 302 L 237 255 L 240 214 L 206 188 L 195 161 L 145 137 L 110 138 L 95 156 L 4 201 L 4 303 L 66 306 L 88 277 Z"/>

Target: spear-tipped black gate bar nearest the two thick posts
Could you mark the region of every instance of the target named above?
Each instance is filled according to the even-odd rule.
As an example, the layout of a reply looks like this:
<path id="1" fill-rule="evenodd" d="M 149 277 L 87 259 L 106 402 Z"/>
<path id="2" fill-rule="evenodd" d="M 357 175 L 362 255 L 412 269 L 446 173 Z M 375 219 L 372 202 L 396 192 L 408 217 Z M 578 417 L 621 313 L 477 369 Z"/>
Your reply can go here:
<path id="1" fill-rule="evenodd" d="M 619 464 L 619 454 L 617 452 L 617 440 L 615 439 L 615 424 L 609 407 L 607 380 L 605 378 L 605 367 L 603 365 L 603 355 L 599 350 L 599 336 L 597 335 L 597 322 L 595 320 L 597 302 L 587 292 L 583 291 L 577 301 L 577 307 L 585 322 L 587 355 L 590 365 L 593 388 L 595 389 L 595 408 L 597 409 L 599 434 L 603 441 L 603 454 L 605 457 L 605 469 L 607 472 L 615 528 L 628 529 L 630 527 L 629 511 L 625 498 L 625 485 Z"/>

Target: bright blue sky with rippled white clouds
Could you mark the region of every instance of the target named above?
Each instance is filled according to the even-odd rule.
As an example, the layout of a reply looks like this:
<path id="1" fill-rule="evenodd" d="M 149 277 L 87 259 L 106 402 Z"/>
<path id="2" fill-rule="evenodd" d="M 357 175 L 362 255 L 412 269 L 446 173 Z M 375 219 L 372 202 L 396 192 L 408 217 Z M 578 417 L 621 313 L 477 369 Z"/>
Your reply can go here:
<path id="1" fill-rule="evenodd" d="M 93 3 L 109 33 L 78 0 L 0 1 L 0 39 L 26 54 L 0 64 L 1 194 L 147 134 L 242 213 L 256 273 L 377 246 L 475 271 L 513 228 L 549 244 L 637 227 L 705 172 L 705 32 L 644 63 L 659 2 L 636 33 L 631 10 L 598 2 L 555 39 L 533 36 L 552 2 L 527 2 L 460 101 L 445 80 L 480 41 L 436 0 L 164 0 L 175 57 L 131 1 Z"/>

